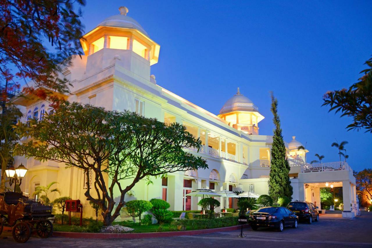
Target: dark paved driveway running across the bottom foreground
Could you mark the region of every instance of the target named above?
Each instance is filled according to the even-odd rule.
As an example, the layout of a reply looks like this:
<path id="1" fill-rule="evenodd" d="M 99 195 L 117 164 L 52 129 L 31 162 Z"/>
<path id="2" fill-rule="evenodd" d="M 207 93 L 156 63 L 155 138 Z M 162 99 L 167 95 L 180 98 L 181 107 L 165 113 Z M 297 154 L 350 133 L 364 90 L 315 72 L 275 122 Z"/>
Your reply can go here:
<path id="1" fill-rule="evenodd" d="M 372 247 L 372 212 L 362 212 L 354 219 L 320 219 L 311 225 L 300 223 L 297 229 L 283 232 L 270 229 L 244 229 L 246 238 L 237 238 L 238 231 L 195 236 L 150 239 L 40 239 L 32 236 L 25 244 L 17 244 L 9 232 L 0 239 L 0 247 Z"/>

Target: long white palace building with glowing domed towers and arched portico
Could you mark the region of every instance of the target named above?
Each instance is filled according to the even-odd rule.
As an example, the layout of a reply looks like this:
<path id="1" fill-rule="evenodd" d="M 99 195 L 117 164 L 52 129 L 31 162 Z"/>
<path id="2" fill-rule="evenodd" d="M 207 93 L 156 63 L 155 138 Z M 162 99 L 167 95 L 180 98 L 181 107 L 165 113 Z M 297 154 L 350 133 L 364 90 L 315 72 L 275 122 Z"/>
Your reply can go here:
<path id="1" fill-rule="evenodd" d="M 259 134 L 259 122 L 264 116 L 258 107 L 238 88 L 234 96 L 221 103 L 222 108 L 215 115 L 159 86 L 150 67 L 158 62 L 160 45 L 137 21 L 126 15 L 126 7 L 119 10 L 119 15 L 108 17 L 84 35 L 81 45 L 85 55 L 81 59 L 74 58 L 73 66 L 63 70 L 63 76 L 73 84 L 71 93 L 65 97 L 70 102 L 89 103 L 108 110 L 131 110 L 166 123 L 182 123 L 203 143 L 199 153 L 190 152 L 204 158 L 209 167 L 171 173 L 163 180 L 154 178 L 150 186 L 141 181 L 125 200 L 160 198 L 170 203 L 170 210 L 197 210 L 200 197 L 185 196 L 195 189 L 268 194 L 272 136 Z M 24 106 L 23 121 L 52 111 L 48 102 L 35 96 L 15 97 L 14 101 Z M 305 152 L 308 151 L 298 150 L 301 143 L 295 137 L 286 145 L 293 200 L 317 202 L 321 209 L 320 188 L 342 187 L 343 217 L 355 216 L 355 178 L 349 165 L 346 162 L 306 164 Z M 16 158 L 15 167 L 21 162 L 28 168 L 21 185 L 24 192 L 32 196 L 35 187 L 57 181 L 61 196 L 80 199 L 84 215 L 94 215 L 84 197 L 82 170 L 66 169 L 64 164 L 53 161 L 21 157 Z M 221 200 L 221 208 L 233 207 L 232 201 L 227 201 L 227 205 Z"/>

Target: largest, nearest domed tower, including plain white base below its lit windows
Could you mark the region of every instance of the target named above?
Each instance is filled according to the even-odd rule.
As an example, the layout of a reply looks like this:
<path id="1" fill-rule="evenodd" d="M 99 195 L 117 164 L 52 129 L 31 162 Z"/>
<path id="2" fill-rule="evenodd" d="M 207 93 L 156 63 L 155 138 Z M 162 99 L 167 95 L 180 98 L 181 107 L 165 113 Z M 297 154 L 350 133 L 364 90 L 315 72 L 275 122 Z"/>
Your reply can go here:
<path id="1" fill-rule="evenodd" d="M 115 62 L 150 80 L 150 66 L 158 62 L 160 45 L 150 39 L 136 20 L 127 16 L 127 7 L 119 7 L 119 11 L 119 15 L 106 18 L 81 38 L 87 56 L 87 74 Z"/>

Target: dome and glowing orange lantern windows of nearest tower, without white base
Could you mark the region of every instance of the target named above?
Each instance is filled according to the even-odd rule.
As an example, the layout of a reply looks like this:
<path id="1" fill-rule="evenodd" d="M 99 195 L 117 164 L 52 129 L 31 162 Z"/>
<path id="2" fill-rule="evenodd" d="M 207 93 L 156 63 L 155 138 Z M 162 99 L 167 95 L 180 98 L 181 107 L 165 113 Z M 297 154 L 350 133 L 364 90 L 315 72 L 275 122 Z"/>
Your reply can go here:
<path id="1" fill-rule="evenodd" d="M 80 42 L 85 55 L 93 55 L 105 48 L 129 50 L 149 61 L 149 65 L 156 64 L 160 45 L 150 39 L 140 23 L 127 15 L 127 7 L 119 7 L 119 12 L 119 15 L 106 18 L 83 36 Z M 116 54 L 122 57 L 119 51 Z"/>

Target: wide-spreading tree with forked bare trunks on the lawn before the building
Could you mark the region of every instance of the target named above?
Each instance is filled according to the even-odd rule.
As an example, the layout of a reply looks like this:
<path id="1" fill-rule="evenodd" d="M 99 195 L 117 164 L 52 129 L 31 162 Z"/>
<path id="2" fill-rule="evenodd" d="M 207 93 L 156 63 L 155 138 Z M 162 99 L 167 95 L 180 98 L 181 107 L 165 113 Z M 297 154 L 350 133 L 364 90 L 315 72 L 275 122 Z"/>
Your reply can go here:
<path id="1" fill-rule="evenodd" d="M 120 215 L 125 194 L 138 181 L 151 183 L 151 176 L 208 168 L 205 160 L 183 149 L 202 146 L 184 126 L 167 125 L 131 112 L 66 102 L 42 121 L 18 123 L 16 132 L 32 139 L 18 145 L 16 154 L 84 170 L 85 196 L 102 207 L 105 225 Z M 93 171 L 93 178 L 89 178 L 89 170 Z M 105 180 L 106 175 L 110 180 Z M 129 183 L 124 185 L 124 179 Z M 118 202 L 114 188 L 120 192 Z M 97 197 L 92 196 L 92 190 Z"/>

